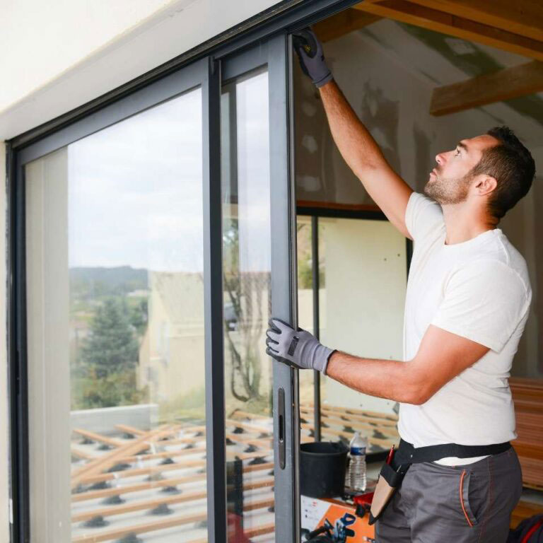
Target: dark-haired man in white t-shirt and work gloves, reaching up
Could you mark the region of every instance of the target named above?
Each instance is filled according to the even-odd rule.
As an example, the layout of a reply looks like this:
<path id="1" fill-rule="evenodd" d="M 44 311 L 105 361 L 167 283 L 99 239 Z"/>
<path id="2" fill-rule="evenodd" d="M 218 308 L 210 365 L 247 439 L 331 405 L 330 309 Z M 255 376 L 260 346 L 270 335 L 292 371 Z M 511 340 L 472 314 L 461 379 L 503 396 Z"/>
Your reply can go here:
<path id="1" fill-rule="evenodd" d="M 295 45 L 341 155 L 414 254 L 403 361 L 329 349 L 273 318 L 267 354 L 400 403 L 397 455 L 416 458 L 379 517 L 380 543 L 505 542 L 522 491 L 508 377 L 532 290 L 496 225 L 530 189 L 534 160 L 507 127 L 491 129 L 439 153 L 426 195 L 414 192 L 346 102 L 313 32 Z"/>

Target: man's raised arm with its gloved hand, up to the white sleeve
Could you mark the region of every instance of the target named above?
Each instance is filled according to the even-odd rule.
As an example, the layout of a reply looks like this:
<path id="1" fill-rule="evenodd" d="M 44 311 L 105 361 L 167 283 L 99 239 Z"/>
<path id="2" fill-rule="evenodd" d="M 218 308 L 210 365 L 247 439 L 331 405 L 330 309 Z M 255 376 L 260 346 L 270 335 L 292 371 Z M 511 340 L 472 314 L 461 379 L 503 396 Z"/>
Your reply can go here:
<path id="1" fill-rule="evenodd" d="M 332 137 L 349 168 L 388 220 L 407 238 L 405 210 L 413 189 L 399 177 L 383 156 L 373 136 L 358 119 L 332 78 L 322 45 L 312 30 L 294 35 L 300 66 L 320 91 Z"/>

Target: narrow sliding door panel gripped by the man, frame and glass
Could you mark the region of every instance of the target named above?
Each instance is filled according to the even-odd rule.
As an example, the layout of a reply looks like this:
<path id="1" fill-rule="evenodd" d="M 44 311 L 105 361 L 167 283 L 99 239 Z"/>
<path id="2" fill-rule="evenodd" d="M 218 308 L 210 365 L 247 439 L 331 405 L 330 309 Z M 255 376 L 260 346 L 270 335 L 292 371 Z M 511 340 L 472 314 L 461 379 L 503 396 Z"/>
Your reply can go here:
<path id="1" fill-rule="evenodd" d="M 221 93 L 228 542 L 294 541 L 293 372 L 265 354 L 293 318 L 287 41 L 224 59 Z"/>

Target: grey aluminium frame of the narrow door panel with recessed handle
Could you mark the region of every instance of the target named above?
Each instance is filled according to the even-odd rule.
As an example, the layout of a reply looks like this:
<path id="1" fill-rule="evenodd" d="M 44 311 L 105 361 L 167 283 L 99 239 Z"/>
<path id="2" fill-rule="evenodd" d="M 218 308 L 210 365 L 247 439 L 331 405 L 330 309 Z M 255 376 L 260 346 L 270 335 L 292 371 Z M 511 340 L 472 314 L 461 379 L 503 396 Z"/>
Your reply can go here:
<path id="1" fill-rule="evenodd" d="M 267 64 L 271 314 L 297 325 L 291 36 L 280 33 L 221 61 L 223 81 Z M 265 346 L 262 346 L 264 350 Z M 298 370 L 273 361 L 275 540 L 300 542 Z"/>

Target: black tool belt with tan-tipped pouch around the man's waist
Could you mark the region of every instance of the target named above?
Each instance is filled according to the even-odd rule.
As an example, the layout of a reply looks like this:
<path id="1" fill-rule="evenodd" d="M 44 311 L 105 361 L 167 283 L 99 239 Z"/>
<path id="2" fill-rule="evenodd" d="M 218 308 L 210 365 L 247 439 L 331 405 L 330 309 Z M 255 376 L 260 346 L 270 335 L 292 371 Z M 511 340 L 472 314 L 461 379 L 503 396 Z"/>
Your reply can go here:
<path id="1" fill-rule="evenodd" d="M 414 448 L 411 443 L 403 439 L 399 440 L 399 446 L 392 456 L 390 464 L 383 464 L 379 473 L 379 479 L 373 494 L 370 509 L 369 524 L 373 524 L 383 514 L 387 503 L 395 493 L 409 466 L 419 462 L 434 462 L 441 458 L 454 456 L 457 458 L 470 458 L 474 456 L 498 455 L 510 449 L 511 444 L 494 443 L 493 445 L 458 445 L 457 443 L 445 443 L 443 445 L 428 445 L 428 447 Z"/>

